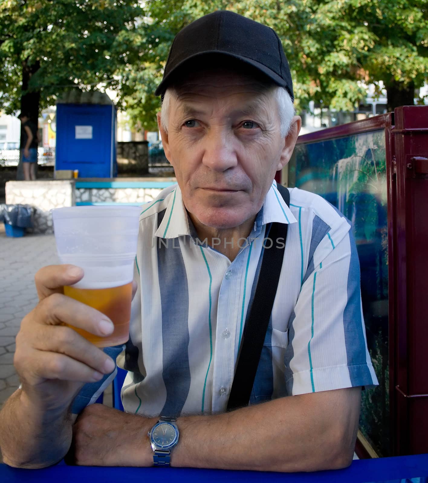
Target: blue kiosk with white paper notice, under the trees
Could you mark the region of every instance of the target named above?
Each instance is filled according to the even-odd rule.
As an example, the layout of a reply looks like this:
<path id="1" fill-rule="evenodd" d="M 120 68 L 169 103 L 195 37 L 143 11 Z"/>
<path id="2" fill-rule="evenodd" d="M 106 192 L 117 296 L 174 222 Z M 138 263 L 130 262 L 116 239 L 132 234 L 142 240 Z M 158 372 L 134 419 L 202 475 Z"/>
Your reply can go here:
<path id="1" fill-rule="evenodd" d="M 56 170 L 79 178 L 117 176 L 116 107 L 103 92 L 77 89 L 57 101 Z"/>

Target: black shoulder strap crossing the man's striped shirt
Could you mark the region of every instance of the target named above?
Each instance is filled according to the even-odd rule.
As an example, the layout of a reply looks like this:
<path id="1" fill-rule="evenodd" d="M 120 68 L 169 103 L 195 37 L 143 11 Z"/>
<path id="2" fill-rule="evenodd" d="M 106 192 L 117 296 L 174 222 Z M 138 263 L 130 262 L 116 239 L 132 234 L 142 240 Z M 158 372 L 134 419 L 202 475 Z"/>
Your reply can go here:
<path id="1" fill-rule="evenodd" d="M 290 192 L 278 185 L 282 198 L 290 206 Z M 277 292 L 284 257 L 288 225 L 272 223 L 269 238 L 272 248 L 265 248 L 259 279 L 251 304 L 250 315 L 244 328 L 241 348 L 238 355 L 235 377 L 227 403 L 228 411 L 247 406 L 250 401 L 263 342 Z"/>

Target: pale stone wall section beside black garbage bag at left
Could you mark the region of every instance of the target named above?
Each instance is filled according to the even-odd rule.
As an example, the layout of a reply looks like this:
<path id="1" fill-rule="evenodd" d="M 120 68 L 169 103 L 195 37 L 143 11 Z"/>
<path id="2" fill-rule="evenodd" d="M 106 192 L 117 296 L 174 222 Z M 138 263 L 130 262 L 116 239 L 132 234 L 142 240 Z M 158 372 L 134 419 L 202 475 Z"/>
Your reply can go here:
<path id="1" fill-rule="evenodd" d="M 29 204 L 35 208 L 32 233 L 53 233 L 50 210 L 62 206 L 73 206 L 74 184 L 64 181 L 8 181 L 6 183 L 7 204 Z"/>

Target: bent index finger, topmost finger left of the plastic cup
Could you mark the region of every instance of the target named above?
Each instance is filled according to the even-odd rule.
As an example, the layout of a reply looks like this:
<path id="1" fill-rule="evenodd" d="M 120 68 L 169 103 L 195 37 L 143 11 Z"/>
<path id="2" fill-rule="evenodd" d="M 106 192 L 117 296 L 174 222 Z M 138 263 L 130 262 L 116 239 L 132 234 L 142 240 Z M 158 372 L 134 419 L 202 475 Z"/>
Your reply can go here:
<path id="1" fill-rule="evenodd" d="M 54 293 L 63 293 L 64 285 L 73 285 L 83 278 L 83 270 L 75 265 L 48 265 L 34 276 L 37 295 L 43 300 Z"/>

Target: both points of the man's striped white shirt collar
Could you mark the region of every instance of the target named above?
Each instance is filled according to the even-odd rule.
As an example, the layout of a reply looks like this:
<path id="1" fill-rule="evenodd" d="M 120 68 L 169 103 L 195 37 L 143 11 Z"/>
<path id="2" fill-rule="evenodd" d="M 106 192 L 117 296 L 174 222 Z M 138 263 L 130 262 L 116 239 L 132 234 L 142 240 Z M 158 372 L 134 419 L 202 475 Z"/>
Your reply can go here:
<path id="1" fill-rule="evenodd" d="M 261 210 L 257 213 L 250 238 L 257 238 L 262 231 L 262 227 L 273 222 L 297 223 L 293 213 L 291 213 L 290 208 L 278 191 L 275 181 L 267 192 Z M 168 205 L 155 236 L 160 238 L 177 238 L 183 235 L 192 236 L 192 232 L 183 197 L 177 185 L 176 189 L 169 194 Z"/>

